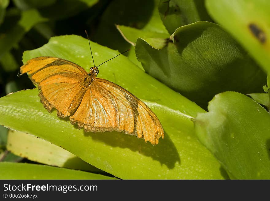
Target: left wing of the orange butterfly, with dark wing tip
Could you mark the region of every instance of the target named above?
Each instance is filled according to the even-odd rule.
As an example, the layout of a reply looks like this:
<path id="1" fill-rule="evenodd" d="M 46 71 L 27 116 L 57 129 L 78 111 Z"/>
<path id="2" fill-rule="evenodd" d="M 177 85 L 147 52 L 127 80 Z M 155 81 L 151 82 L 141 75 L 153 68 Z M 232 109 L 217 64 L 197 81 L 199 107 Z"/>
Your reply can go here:
<path id="1" fill-rule="evenodd" d="M 81 89 L 86 71 L 79 65 L 55 57 L 37 57 L 21 66 L 21 74 L 28 73 L 44 107 L 51 112 L 56 108 L 58 117 L 70 115 L 68 107 Z M 80 101 L 80 100 L 78 100 Z"/>

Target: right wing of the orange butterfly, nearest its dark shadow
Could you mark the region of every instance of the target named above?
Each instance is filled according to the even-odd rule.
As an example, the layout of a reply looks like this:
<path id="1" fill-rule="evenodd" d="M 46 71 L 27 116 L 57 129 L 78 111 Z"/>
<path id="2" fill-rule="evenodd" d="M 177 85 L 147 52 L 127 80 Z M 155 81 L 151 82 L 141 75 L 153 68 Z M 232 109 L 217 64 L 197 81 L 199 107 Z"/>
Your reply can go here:
<path id="1" fill-rule="evenodd" d="M 164 131 L 156 115 L 129 91 L 108 80 L 95 78 L 70 116 L 86 132 L 118 131 L 157 144 Z"/>

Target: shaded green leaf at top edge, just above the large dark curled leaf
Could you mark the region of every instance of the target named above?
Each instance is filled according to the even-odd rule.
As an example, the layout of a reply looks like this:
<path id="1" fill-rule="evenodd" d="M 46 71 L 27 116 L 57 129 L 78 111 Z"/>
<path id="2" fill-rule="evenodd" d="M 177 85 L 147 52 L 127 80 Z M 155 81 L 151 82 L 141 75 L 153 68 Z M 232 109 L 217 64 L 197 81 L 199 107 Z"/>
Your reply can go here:
<path id="1" fill-rule="evenodd" d="M 197 21 L 210 21 L 204 0 L 160 0 L 160 18 L 172 34 L 178 27 Z"/>

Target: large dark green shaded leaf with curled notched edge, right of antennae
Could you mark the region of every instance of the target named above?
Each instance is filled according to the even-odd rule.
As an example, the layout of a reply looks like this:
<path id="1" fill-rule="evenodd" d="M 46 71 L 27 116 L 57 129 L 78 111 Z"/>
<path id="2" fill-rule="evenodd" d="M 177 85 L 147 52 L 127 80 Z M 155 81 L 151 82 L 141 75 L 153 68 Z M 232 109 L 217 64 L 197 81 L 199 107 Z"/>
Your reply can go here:
<path id="1" fill-rule="evenodd" d="M 219 92 L 262 91 L 265 73 L 219 25 L 204 21 L 185 25 L 171 39 L 173 43 L 161 50 L 147 39 L 137 39 L 137 58 L 146 73 L 203 108 Z"/>

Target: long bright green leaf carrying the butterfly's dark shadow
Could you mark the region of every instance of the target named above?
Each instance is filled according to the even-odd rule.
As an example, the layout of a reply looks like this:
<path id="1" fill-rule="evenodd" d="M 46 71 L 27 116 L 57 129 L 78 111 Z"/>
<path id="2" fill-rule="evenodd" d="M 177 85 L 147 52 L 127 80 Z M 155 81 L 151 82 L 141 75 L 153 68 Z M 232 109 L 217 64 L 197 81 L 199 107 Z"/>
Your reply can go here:
<path id="1" fill-rule="evenodd" d="M 221 179 L 214 156 L 197 140 L 190 116 L 166 106 L 146 102 L 159 117 L 164 140 L 152 146 L 118 132 L 78 130 L 68 120 L 49 114 L 37 89 L 0 99 L 0 123 L 31 133 L 75 154 L 84 161 L 122 179 Z M 11 121 L 13 120 L 13 121 Z M 127 171 L 128 169 L 128 171 Z"/>

